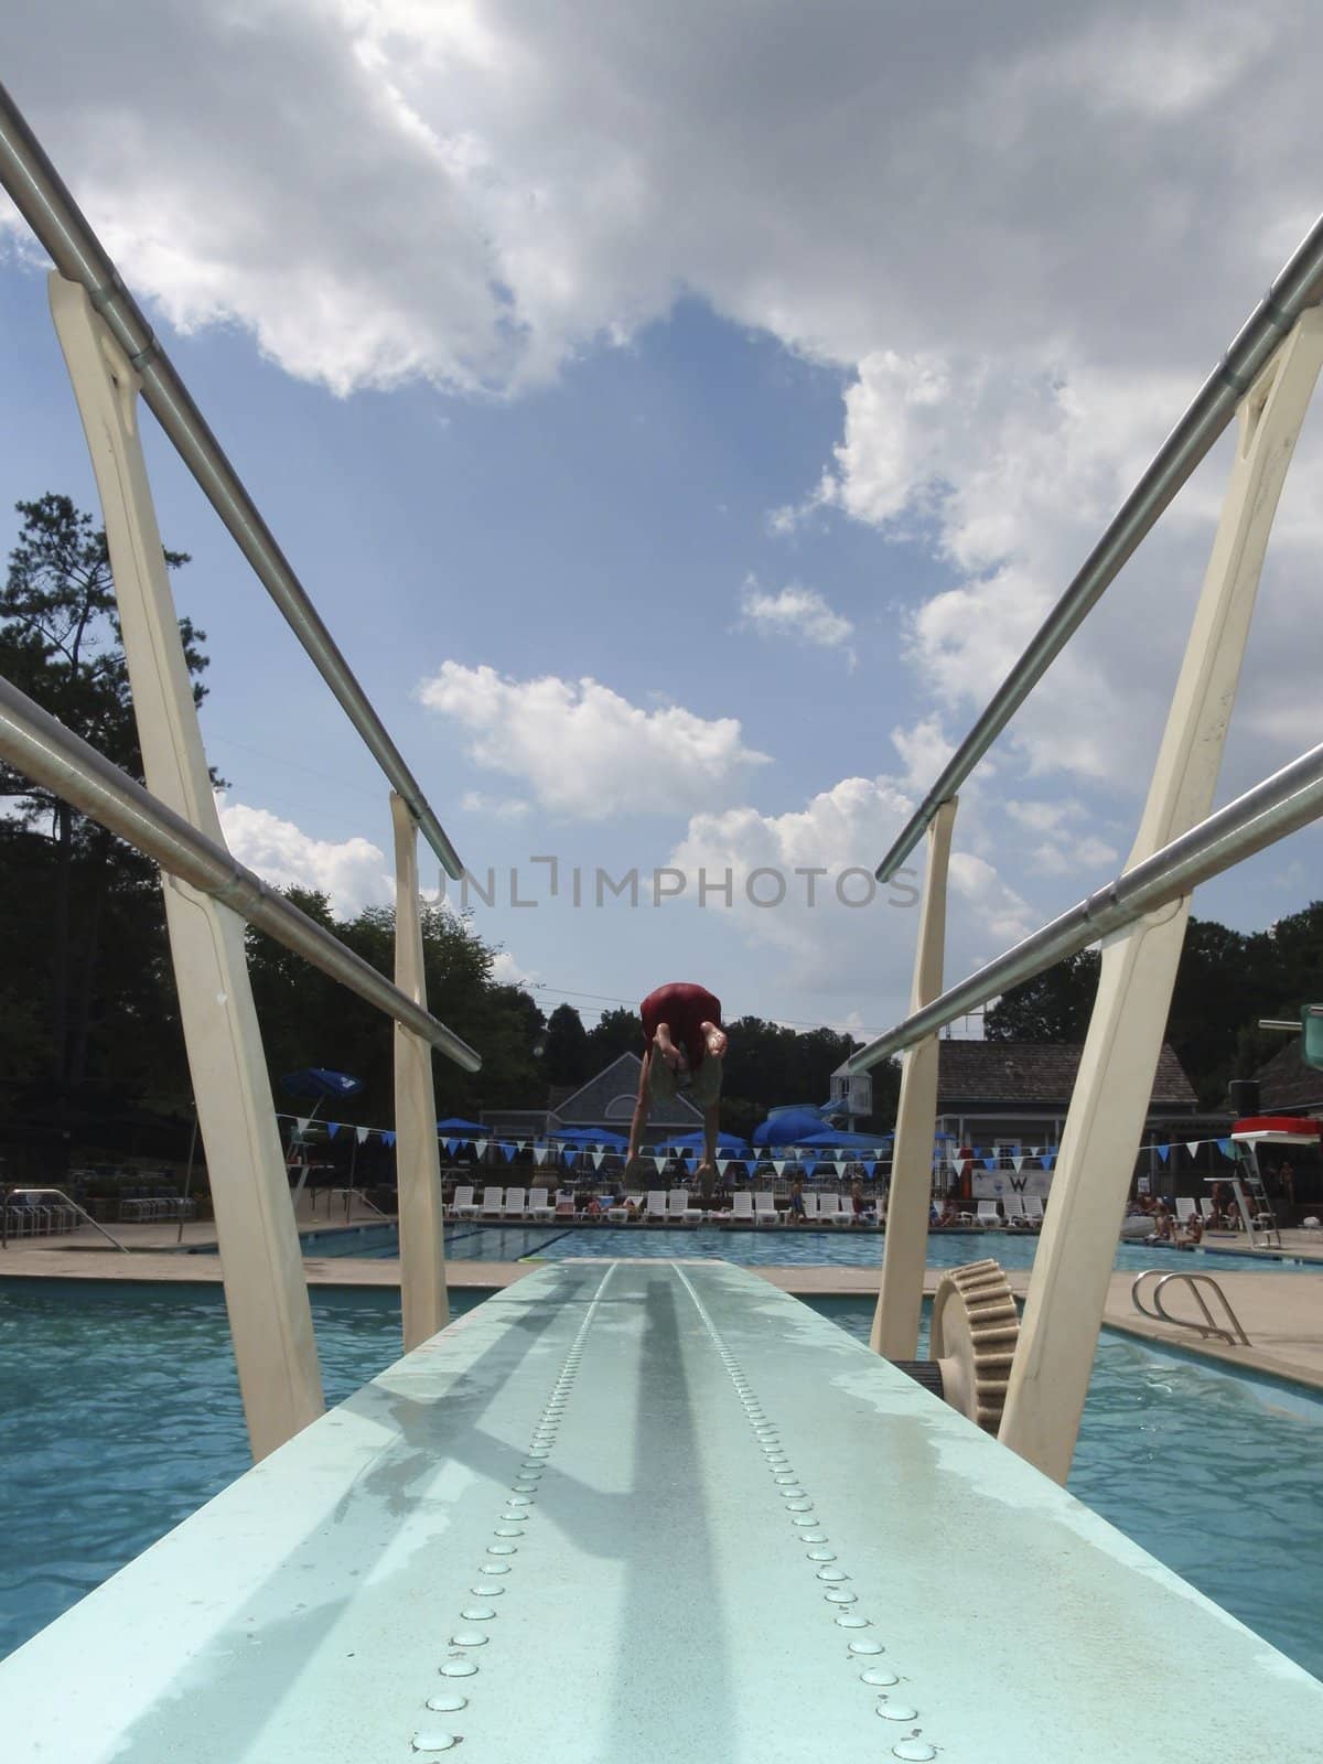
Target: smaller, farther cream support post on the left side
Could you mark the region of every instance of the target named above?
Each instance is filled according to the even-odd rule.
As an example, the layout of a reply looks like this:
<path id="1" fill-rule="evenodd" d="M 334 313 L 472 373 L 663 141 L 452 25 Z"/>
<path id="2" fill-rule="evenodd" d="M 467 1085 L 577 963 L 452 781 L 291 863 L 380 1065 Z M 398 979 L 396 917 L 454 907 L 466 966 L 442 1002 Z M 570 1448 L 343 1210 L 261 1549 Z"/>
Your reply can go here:
<path id="1" fill-rule="evenodd" d="M 427 1007 L 423 928 L 418 910 L 418 822 L 390 792 L 395 826 L 395 984 Z M 432 1050 L 395 1023 L 395 1171 L 400 1217 L 404 1351 L 413 1353 L 450 1321 L 446 1298 L 441 1150 L 436 1140 Z"/>

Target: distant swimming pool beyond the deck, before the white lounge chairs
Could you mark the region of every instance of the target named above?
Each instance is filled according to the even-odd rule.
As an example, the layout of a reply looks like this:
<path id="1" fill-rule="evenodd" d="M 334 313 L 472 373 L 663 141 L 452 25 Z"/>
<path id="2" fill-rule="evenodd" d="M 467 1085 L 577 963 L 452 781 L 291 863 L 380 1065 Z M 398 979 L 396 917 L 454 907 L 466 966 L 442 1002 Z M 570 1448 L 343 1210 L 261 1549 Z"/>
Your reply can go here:
<path id="1" fill-rule="evenodd" d="M 457 1224 L 446 1228 L 446 1256 L 453 1261 L 522 1261 L 533 1256 L 561 1261 L 566 1256 L 647 1256 L 660 1261 L 734 1261 L 741 1268 L 827 1267 L 877 1268 L 886 1238 L 877 1231 L 723 1231 L 699 1226 L 674 1231 L 665 1226 L 545 1226 L 545 1224 Z M 967 1261 L 995 1256 L 1004 1268 L 1028 1268 L 1037 1237 L 1030 1231 L 933 1231 L 928 1238 L 930 1268 L 960 1268 Z M 399 1256 L 395 1226 L 370 1224 L 349 1231 L 305 1231 L 305 1256 Z M 1205 1272 L 1268 1268 L 1291 1274 L 1309 1268 L 1298 1258 L 1244 1256 L 1221 1249 L 1162 1249 L 1157 1244 L 1117 1244 L 1115 1267 L 1127 1274 L 1145 1268 L 1203 1268 Z M 1318 1272 L 1318 1263 L 1312 1263 Z"/>

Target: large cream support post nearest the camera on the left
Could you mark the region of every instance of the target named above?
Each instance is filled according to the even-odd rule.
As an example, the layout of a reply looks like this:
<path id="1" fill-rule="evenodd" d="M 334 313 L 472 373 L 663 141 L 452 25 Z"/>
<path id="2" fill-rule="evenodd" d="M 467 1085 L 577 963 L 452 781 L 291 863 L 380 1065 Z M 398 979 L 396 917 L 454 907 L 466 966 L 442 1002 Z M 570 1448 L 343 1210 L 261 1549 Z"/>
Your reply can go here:
<path id="1" fill-rule="evenodd" d="M 53 272 L 49 296 L 101 492 L 146 781 L 224 845 L 143 459 L 139 377 L 81 284 Z M 164 871 L 162 889 L 243 1415 L 263 1459 L 325 1402 L 243 919 Z"/>

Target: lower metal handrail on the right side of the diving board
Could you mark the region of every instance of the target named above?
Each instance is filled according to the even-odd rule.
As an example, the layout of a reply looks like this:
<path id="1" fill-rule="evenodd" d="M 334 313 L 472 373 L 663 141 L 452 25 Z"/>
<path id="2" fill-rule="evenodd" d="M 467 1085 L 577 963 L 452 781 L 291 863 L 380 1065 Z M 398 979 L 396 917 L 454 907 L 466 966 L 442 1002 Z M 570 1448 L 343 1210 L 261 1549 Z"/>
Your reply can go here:
<path id="1" fill-rule="evenodd" d="M 1252 857 L 1265 845 L 1298 833 L 1319 815 L 1323 815 L 1323 743 L 859 1048 L 843 1062 L 843 1071 L 864 1073 L 912 1043 L 935 1035 L 953 1018 L 965 1016 L 975 1005 L 1043 974 L 1044 968 L 1087 949 L 1101 937 L 1180 900 L 1200 882 L 1221 875 L 1244 857 Z"/>

